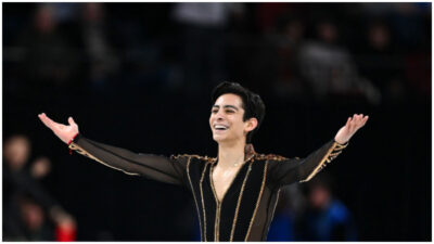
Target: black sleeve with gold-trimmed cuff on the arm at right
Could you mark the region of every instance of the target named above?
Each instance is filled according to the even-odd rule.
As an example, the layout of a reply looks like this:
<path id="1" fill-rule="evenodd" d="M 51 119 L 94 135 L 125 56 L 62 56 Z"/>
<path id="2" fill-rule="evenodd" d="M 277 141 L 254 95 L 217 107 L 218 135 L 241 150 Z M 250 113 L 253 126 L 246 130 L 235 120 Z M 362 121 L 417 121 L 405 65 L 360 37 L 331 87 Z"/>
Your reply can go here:
<path id="1" fill-rule="evenodd" d="M 340 144 L 331 140 L 305 158 L 271 157 L 271 184 L 280 188 L 294 182 L 309 181 L 327 164 L 341 154 L 347 144 Z"/>

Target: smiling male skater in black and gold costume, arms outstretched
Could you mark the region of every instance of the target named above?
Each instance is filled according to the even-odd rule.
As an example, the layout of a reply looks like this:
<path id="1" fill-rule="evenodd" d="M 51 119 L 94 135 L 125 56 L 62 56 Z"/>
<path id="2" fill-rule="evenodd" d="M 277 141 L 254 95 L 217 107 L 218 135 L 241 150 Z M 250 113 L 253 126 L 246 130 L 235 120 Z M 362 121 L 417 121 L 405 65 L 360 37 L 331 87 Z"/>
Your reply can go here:
<path id="1" fill-rule="evenodd" d="M 368 120 L 368 116 L 354 115 L 334 140 L 306 158 L 285 158 L 258 154 L 247 144 L 264 119 L 259 95 L 239 84 L 222 82 L 214 89 L 212 99 L 209 127 L 218 143 L 216 158 L 136 154 L 85 138 L 72 117 L 68 126 L 54 123 L 43 113 L 39 118 L 71 150 L 101 164 L 187 187 L 197 208 L 202 241 L 265 241 L 280 188 L 310 180 Z"/>

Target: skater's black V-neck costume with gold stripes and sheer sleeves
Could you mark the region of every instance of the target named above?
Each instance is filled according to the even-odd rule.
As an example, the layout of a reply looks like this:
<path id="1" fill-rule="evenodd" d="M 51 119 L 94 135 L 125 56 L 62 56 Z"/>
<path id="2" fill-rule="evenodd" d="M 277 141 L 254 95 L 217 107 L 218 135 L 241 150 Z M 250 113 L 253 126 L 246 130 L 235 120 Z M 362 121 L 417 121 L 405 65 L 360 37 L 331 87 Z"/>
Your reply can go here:
<path id="1" fill-rule="evenodd" d="M 187 187 L 196 204 L 202 241 L 266 241 L 280 188 L 310 180 L 346 145 L 332 140 L 306 158 L 252 152 L 221 203 L 212 180 L 217 158 L 136 154 L 80 134 L 69 149 L 128 175 Z"/>

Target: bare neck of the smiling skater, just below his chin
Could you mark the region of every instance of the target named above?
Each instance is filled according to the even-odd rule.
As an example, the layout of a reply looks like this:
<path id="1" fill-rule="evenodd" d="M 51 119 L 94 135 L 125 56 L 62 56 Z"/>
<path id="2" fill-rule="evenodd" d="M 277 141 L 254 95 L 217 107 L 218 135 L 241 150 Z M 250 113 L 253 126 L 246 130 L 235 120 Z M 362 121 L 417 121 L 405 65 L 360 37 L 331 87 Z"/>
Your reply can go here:
<path id="1" fill-rule="evenodd" d="M 218 166 L 221 168 L 231 168 L 234 164 L 242 165 L 244 158 L 245 142 L 238 141 L 233 143 L 218 144 Z"/>

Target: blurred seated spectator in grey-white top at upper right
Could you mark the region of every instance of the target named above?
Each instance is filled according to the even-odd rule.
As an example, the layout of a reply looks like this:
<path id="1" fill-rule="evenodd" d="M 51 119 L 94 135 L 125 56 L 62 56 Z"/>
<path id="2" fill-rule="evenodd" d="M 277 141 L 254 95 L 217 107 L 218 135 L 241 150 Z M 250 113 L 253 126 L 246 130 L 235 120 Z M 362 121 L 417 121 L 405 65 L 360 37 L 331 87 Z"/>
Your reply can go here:
<path id="1" fill-rule="evenodd" d="M 330 95 L 365 97 L 380 102 L 380 93 L 356 69 L 350 53 L 340 43 L 340 30 L 331 18 L 315 25 L 317 39 L 306 42 L 299 51 L 301 73 L 317 99 Z"/>

